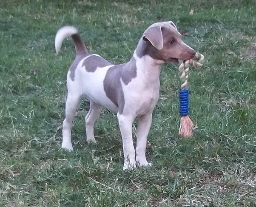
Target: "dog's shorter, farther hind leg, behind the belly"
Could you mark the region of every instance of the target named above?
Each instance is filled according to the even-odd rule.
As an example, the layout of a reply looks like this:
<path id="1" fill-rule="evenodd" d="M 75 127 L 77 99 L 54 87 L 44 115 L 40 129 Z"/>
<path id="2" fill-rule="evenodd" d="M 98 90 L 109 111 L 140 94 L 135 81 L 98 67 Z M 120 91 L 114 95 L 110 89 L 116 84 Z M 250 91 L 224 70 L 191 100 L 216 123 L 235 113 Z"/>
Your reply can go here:
<path id="1" fill-rule="evenodd" d="M 85 128 L 86 128 L 86 142 L 96 142 L 94 138 L 94 122 L 100 115 L 102 106 L 91 101 L 90 110 L 85 116 Z"/>

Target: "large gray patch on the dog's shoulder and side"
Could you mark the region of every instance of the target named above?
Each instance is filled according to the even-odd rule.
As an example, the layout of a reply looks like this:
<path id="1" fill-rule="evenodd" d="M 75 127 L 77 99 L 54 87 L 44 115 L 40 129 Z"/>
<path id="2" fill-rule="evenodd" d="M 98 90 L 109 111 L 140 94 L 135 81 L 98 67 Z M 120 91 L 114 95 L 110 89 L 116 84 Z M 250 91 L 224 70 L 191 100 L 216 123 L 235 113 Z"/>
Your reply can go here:
<path id="1" fill-rule="evenodd" d="M 125 105 L 121 79 L 125 85 L 128 85 L 135 77 L 137 77 L 137 67 L 134 57 L 127 63 L 114 65 L 106 73 L 103 81 L 104 91 L 106 96 L 118 107 L 119 114 L 122 114 Z"/>

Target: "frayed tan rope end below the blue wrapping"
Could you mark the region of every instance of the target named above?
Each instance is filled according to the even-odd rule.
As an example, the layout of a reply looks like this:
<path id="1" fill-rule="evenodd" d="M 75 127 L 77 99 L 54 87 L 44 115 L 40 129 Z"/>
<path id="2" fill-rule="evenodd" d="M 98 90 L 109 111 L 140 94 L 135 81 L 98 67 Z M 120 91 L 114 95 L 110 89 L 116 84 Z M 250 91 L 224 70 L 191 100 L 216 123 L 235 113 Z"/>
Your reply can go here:
<path id="1" fill-rule="evenodd" d="M 189 116 L 182 116 L 179 124 L 179 136 L 188 138 L 193 135 L 194 124 Z"/>

